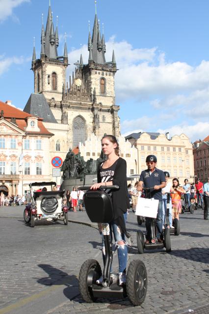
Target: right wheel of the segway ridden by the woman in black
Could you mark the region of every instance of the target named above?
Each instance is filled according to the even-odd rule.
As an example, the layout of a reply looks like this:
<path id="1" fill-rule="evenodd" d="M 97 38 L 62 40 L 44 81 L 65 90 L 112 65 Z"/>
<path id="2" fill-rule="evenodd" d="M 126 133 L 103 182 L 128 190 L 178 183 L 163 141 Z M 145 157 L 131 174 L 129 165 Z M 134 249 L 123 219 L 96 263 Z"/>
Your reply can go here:
<path id="1" fill-rule="evenodd" d="M 141 260 L 133 260 L 126 276 L 128 298 L 135 306 L 144 302 L 147 293 L 147 271 Z"/>

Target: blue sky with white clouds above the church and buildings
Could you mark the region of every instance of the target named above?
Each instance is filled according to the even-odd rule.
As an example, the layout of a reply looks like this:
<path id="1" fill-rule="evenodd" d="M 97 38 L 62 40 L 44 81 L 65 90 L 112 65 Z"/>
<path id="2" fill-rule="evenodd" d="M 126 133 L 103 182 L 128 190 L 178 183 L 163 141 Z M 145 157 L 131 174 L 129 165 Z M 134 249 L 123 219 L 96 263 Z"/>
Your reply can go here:
<path id="1" fill-rule="evenodd" d="M 33 37 L 40 56 L 41 14 L 49 0 L 0 0 L 0 100 L 24 109 L 33 90 Z M 68 47 L 67 77 L 88 61 L 88 24 L 94 0 L 51 0 L 58 16 L 58 55 Z M 104 23 L 106 61 L 114 48 L 116 105 L 121 133 L 209 135 L 209 0 L 97 0 Z"/>

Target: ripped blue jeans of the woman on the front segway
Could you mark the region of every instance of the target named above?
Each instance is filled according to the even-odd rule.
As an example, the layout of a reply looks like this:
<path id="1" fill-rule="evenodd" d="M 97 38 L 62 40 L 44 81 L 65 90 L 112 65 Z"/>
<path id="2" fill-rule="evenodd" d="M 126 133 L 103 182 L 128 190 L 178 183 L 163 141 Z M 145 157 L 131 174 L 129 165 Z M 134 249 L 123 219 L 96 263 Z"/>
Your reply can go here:
<path id="1" fill-rule="evenodd" d="M 127 220 L 127 213 L 124 214 L 124 220 Z M 120 227 L 118 227 L 114 221 L 109 224 L 110 227 L 110 237 L 112 240 L 112 233 L 114 235 L 115 245 L 116 249 L 118 251 L 118 271 L 119 273 L 125 273 L 126 272 L 126 266 L 127 266 L 127 259 L 128 259 L 128 249 L 127 249 L 127 243 L 125 240 L 125 234 L 121 233 Z M 102 252 L 103 252 L 103 261 L 105 260 L 105 248 L 104 248 L 104 237 L 102 234 L 102 230 L 100 230 L 100 234 L 102 235 Z M 124 244 L 118 244 L 119 241 L 123 241 Z M 111 272 L 111 270 L 110 270 Z"/>

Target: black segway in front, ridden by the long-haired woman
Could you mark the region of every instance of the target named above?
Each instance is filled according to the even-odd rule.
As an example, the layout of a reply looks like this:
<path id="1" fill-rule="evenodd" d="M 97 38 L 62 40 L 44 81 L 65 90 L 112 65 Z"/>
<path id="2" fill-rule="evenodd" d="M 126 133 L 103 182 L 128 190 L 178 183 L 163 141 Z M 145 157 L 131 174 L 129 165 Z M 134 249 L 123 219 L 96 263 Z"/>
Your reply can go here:
<path id="1" fill-rule="evenodd" d="M 96 259 L 87 259 L 80 268 L 78 288 L 81 297 L 87 303 L 94 302 L 97 298 L 119 298 L 128 296 L 134 306 L 141 305 L 147 293 L 147 271 L 141 260 L 131 261 L 127 275 L 126 285 L 119 286 L 110 277 L 112 264 L 112 244 L 109 223 L 113 220 L 113 208 L 111 197 L 104 192 L 106 186 L 98 190 L 89 190 L 90 187 L 79 187 L 80 190 L 88 190 L 83 197 L 84 206 L 89 219 L 94 223 L 102 223 L 105 260 L 103 270 L 103 282 L 101 285 L 96 281 L 102 276 L 102 270 Z M 117 190 L 117 185 L 108 186 L 108 190 Z"/>

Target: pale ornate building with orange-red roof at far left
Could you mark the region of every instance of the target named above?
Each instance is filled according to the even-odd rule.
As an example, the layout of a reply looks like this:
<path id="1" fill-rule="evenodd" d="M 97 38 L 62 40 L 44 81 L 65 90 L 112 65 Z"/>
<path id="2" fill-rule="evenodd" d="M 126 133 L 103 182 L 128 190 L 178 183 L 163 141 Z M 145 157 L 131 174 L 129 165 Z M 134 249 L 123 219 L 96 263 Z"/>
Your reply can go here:
<path id="1" fill-rule="evenodd" d="M 42 119 L 0 102 L 0 191 L 23 195 L 52 178 L 50 139 Z"/>

